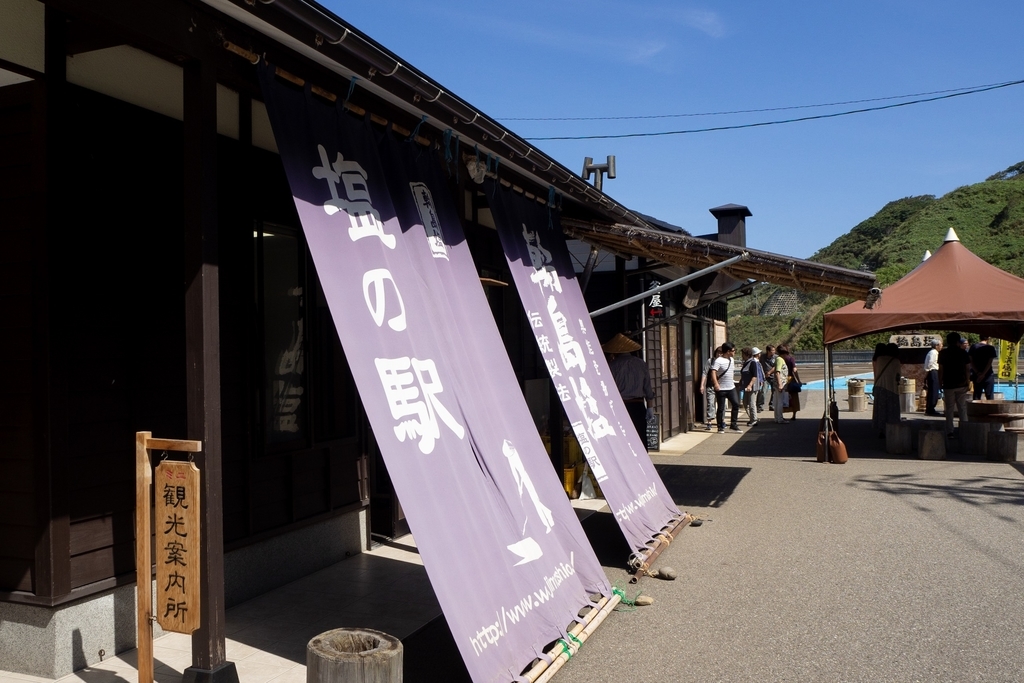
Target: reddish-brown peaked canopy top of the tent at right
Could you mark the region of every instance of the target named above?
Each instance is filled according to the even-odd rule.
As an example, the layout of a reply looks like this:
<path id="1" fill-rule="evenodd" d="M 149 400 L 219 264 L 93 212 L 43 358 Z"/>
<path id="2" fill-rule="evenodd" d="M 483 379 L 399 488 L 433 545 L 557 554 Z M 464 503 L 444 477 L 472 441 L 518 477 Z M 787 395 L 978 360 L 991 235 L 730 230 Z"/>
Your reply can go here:
<path id="1" fill-rule="evenodd" d="M 1024 280 L 975 256 L 949 229 L 931 258 L 893 283 L 867 308 L 855 301 L 824 315 L 824 343 L 887 330 L 955 329 L 1018 341 L 1024 335 Z"/>

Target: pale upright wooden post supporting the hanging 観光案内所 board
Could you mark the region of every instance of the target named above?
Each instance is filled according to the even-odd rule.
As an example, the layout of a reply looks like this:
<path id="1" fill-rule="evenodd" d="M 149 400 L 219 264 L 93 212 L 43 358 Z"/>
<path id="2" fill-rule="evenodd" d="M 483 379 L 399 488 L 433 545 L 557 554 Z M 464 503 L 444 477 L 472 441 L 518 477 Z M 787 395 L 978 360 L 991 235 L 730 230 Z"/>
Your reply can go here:
<path id="1" fill-rule="evenodd" d="M 153 550 L 150 502 L 153 466 L 146 440 L 152 432 L 135 433 L 135 604 L 138 616 L 138 683 L 153 683 Z"/>

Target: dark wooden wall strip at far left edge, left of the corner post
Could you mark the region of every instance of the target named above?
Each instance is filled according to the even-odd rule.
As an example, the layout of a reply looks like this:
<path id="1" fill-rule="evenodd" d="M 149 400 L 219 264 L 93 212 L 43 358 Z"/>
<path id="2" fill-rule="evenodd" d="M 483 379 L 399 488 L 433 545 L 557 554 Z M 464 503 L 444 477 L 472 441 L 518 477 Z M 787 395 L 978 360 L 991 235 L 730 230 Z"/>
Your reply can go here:
<path id="1" fill-rule="evenodd" d="M 31 591 L 36 529 L 33 485 L 33 232 L 41 220 L 34 167 L 38 84 L 0 88 L 0 590 Z M 38 111 L 36 112 L 38 114 Z M 38 126 L 38 122 L 36 123 Z"/>

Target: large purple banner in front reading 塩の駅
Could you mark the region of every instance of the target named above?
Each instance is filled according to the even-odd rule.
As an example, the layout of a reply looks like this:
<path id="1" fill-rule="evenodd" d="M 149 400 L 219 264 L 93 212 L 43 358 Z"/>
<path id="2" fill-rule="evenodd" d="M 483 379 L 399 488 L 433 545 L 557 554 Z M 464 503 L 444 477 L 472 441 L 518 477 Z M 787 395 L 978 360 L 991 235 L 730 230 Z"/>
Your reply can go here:
<path id="1" fill-rule="evenodd" d="M 487 346 L 497 331 L 451 200 L 403 166 L 406 151 L 389 150 L 382 168 L 389 134 L 279 82 L 272 68 L 260 78 L 321 285 L 438 602 L 473 680 L 511 681 L 564 637 L 591 593 L 610 589 L 528 414 L 519 422 L 518 385 L 496 383 L 507 381 L 498 359 L 508 360 Z"/>

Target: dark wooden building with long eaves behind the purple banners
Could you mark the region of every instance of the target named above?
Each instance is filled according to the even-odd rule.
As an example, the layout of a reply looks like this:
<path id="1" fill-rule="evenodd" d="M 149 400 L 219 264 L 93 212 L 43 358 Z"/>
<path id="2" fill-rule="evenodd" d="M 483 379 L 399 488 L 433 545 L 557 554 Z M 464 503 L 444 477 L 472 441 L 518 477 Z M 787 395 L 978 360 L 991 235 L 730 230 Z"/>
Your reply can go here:
<path id="1" fill-rule="evenodd" d="M 521 191 L 553 185 L 575 237 L 614 254 L 693 268 L 730 253 L 687 237 L 659 255 L 664 230 L 311 2 L 0 0 L 0 670 L 56 678 L 134 647 L 138 430 L 204 442 L 201 671 L 224 665 L 225 604 L 402 530 L 253 59 L 342 97 L 356 77 L 353 112 L 406 134 L 428 117 L 429 144 L 451 129 Z M 480 275 L 510 282 L 463 171 Z M 865 288 L 822 267 L 806 283 Z M 523 386 L 546 380 L 514 288 L 488 300 Z M 713 317 L 667 333 L 687 369 Z M 687 381 L 663 400 L 683 404 Z"/>

